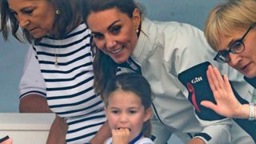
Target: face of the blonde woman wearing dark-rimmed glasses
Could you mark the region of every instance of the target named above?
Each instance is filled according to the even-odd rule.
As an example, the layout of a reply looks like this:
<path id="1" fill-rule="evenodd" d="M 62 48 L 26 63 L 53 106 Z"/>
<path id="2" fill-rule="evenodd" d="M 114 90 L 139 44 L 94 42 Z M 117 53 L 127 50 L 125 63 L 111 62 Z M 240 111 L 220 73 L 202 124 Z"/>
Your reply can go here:
<path id="1" fill-rule="evenodd" d="M 232 36 L 221 36 L 219 50 L 227 50 L 225 47 L 229 47 L 232 43 L 246 33 L 246 30 L 234 30 Z M 238 70 L 247 78 L 253 78 L 256 76 L 256 31 L 255 26 L 246 34 L 246 37 L 242 41 L 245 45 L 245 50 L 241 54 L 230 53 L 230 62 L 228 64 L 234 69 Z M 224 47 L 224 48 L 223 48 Z"/>

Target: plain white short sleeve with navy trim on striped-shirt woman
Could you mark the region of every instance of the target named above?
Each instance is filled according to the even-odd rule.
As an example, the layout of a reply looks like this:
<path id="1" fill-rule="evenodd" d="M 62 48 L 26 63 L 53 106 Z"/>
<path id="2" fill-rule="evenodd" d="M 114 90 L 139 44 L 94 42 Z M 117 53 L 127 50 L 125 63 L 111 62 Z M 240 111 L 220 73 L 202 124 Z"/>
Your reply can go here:
<path id="1" fill-rule="evenodd" d="M 38 94 L 46 97 L 46 86 L 40 72 L 38 60 L 35 58 L 32 46 L 29 47 L 25 66 L 23 68 L 22 78 L 19 83 L 20 99 L 26 97 L 28 94 Z"/>

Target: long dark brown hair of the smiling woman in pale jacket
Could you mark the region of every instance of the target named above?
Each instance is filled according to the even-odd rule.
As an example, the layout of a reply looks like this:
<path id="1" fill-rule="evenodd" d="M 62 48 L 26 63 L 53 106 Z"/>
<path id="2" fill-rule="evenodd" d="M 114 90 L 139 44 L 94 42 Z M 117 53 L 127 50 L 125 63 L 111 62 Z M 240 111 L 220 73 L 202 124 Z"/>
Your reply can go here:
<path id="1" fill-rule="evenodd" d="M 82 0 L 82 18 L 86 22 L 88 16 L 92 12 L 102 10 L 109 10 L 116 8 L 123 14 L 127 14 L 129 18 L 133 17 L 133 12 L 136 8 L 142 10 L 134 0 Z M 142 14 L 142 11 L 140 11 Z M 99 50 L 93 42 L 91 42 L 92 51 L 95 53 L 94 57 L 94 88 L 96 93 L 102 93 L 105 89 L 106 83 L 114 78 L 117 71 L 117 64 Z"/>

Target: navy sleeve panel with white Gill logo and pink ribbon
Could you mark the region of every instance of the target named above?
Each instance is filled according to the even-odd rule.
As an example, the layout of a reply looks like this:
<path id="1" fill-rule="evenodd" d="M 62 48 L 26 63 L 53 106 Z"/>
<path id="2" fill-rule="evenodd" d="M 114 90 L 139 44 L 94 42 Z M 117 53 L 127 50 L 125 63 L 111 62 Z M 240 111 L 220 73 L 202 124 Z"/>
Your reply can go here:
<path id="1" fill-rule="evenodd" d="M 216 114 L 214 110 L 210 110 L 200 105 L 202 100 L 208 100 L 216 103 L 214 95 L 210 90 L 209 82 L 206 78 L 206 70 L 209 65 L 210 62 L 203 62 L 193 66 L 190 69 L 183 71 L 181 74 L 178 74 L 178 79 L 189 91 L 188 98 L 194 106 L 198 117 L 203 120 L 218 120 L 224 117 Z"/>

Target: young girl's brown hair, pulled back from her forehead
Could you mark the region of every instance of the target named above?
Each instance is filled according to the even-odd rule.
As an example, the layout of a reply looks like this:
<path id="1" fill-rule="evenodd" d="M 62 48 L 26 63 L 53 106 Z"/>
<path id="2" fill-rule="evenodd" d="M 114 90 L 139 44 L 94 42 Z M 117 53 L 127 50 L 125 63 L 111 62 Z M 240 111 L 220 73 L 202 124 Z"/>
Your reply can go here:
<path id="1" fill-rule="evenodd" d="M 150 84 L 141 74 L 124 73 L 110 79 L 107 82 L 106 88 L 102 92 L 103 102 L 105 107 L 109 105 L 109 97 L 116 90 L 130 91 L 136 94 L 142 102 L 145 111 L 150 109 L 152 104 Z M 150 138 L 151 124 L 150 119 L 144 122 L 142 127 L 142 134 Z"/>

